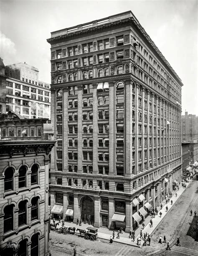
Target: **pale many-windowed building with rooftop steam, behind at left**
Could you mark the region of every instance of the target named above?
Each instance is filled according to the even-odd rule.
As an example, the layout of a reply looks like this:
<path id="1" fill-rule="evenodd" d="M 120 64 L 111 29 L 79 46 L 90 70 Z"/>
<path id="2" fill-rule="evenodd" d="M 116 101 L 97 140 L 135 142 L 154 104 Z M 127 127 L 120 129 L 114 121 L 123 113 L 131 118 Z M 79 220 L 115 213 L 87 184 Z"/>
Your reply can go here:
<path id="1" fill-rule="evenodd" d="M 50 85 L 38 80 L 38 72 L 26 63 L 5 67 L 6 112 L 13 111 L 24 118 L 50 118 Z"/>

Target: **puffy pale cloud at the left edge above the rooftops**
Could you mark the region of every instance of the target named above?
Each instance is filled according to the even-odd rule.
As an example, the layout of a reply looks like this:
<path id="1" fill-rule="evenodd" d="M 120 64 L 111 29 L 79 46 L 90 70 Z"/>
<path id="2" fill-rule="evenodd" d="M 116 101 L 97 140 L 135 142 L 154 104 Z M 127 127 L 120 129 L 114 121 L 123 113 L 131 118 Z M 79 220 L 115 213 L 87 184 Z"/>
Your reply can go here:
<path id="1" fill-rule="evenodd" d="M 0 31 L 0 57 L 3 58 L 4 64 L 13 62 L 13 57 L 16 55 L 15 43 L 10 40 L 10 38 L 6 37 Z"/>

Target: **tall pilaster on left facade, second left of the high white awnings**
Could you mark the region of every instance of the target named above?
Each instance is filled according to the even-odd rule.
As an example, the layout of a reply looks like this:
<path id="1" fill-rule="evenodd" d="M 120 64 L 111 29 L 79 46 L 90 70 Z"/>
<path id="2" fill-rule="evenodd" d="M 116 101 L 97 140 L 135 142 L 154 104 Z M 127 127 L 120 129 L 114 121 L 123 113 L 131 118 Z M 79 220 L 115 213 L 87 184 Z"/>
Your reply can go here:
<path id="1" fill-rule="evenodd" d="M 78 86 L 78 173 L 82 173 L 82 105 L 83 105 L 83 99 L 82 99 L 82 86 Z"/>

